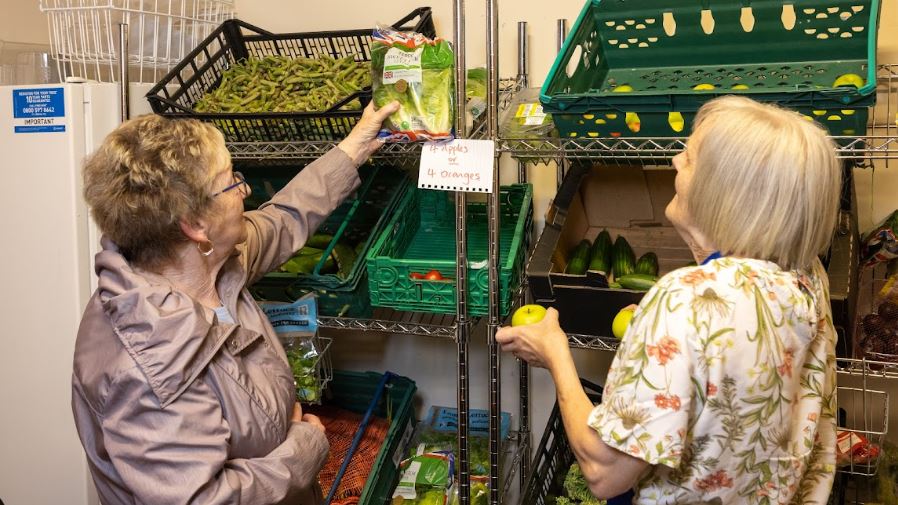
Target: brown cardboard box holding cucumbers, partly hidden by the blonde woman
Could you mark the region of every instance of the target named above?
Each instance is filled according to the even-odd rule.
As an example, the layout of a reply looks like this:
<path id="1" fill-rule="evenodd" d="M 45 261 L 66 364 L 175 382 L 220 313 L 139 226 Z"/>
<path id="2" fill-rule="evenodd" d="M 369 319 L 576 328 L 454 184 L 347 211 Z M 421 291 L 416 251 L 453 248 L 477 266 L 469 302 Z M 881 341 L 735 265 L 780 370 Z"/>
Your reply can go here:
<path id="1" fill-rule="evenodd" d="M 546 216 L 546 227 L 527 264 L 535 303 L 559 310 L 570 334 L 611 336 L 617 312 L 638 304 L 644 293 L 608 289 L 604 276 L 564 273 L 567 257 L 583 239 L 595 240 L 603 229 L 612 241 L 624 236 L 638 258 L 653 251 L 661 275 L 693 262 L 692 253 L 664 209 L 674 196 L 676 172 L 670 168 L 575 165 L 568 172 Z M 846 181 L 853 202 L 853 187 Z M 839 355 L 851 349 L 857 291 L 857 212 L 849 209 L 842 232 L 834 237 L 828 258 L 833 322 L 841 328 Z M 847 232 L 846 232 L 847 230 Z"/>

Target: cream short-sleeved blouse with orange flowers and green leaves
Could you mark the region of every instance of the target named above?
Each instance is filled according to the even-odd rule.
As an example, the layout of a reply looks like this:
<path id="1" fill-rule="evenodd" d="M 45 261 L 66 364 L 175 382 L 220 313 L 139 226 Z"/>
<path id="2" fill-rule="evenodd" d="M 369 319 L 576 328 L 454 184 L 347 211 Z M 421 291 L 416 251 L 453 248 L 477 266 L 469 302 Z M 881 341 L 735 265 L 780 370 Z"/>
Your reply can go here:
<path id="1" fill-rule="evenodd" d="M 825 504 L 835 340 L 822 265 L 721 258 L 639 304 L 589 424 L 650 463 L 638 504 Z"/>

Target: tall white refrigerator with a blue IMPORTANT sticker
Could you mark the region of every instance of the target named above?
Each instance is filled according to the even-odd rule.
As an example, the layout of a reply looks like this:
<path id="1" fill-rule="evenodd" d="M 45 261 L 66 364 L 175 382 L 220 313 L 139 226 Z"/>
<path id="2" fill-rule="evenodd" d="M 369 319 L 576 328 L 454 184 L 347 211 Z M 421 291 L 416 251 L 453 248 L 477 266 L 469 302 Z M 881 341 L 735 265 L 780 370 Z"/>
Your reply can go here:
<path id="1" fill-rule="evenodd" d="M 0 87 L 0 501 L 96 503 L 71 411 L 98 238 L 81 164 L 120 123 L 116 84 Z"/>

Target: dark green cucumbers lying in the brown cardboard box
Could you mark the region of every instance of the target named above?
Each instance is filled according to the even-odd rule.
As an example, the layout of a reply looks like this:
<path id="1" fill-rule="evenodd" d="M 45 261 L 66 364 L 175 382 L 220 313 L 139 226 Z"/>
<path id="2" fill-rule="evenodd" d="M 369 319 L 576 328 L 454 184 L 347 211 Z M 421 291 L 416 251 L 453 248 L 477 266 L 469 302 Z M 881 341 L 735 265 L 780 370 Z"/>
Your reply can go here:
<path id="1" fill-rule="evenodd" d="M 610 288 L 648 291 L 658 280 L 658 255 L 647 252 L 637 260 L 627 239 L 618 236 L 612 244 L 611 234 L 602 230 L 595 242 L 580 241 L 564 273 L 586 275 L 587 270 L 605 274 Z"/>

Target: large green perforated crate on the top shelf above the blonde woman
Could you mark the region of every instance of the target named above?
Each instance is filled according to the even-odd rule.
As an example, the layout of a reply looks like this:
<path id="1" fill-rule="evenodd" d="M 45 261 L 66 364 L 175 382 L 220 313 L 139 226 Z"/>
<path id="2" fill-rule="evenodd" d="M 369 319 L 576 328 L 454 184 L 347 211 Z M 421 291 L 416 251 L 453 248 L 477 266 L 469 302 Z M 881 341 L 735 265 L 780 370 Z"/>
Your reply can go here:
<path id="1" fill-rule="evenodd" d="M 676 137 L 738 94 L 863 135 L 879 0 L 588 0 L 540 101 L 562 137 Z"/>

